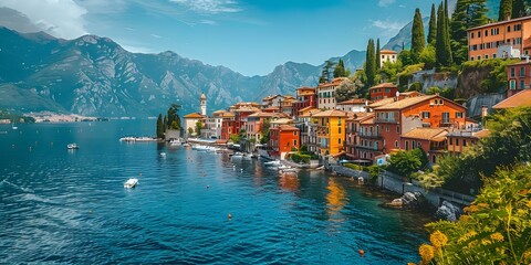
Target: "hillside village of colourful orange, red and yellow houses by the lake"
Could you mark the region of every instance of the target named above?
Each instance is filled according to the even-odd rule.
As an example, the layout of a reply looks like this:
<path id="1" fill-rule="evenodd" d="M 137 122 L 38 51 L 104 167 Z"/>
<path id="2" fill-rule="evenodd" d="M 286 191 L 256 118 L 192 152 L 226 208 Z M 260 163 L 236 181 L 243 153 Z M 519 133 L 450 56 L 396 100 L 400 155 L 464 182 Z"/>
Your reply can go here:
<path id="1" fill-rule="evenodd" d="M 531 44 L 529 36 L 524 36 L 530 30 L 531 17 L 468 30 L 470 61 L 522 57 L 504 67 L 507 99 L 482 106 L 479 117 L 467 117 L 462 103 L 437 92 L 404 91 L 391 82 L 371 86 L 368 98 L 337 102 L 337 88 L 350 80 L 335 77 L 316 87 L 300 87 L 294 95 L 271 95 L 261 103 L 238 103 L 210 116 L 207 116 L 207 98 L 202 94 L 200 113 L 184 116 L 184 131 L 187 137 L 231 142 L 244 147 L 246 151 L 260 147 L 268 150 L 269 157 L 280 159 L 303 149 L 320 159 L 372 165 L 384 163 L 389 153 L 421 148 L 434 165 L 439 157 L 459 156 L 488 136 L 481 119 L 492 110 L 531 105 L 528 57 Z M 381 65 L 393 64 L 398 53 L 383 50 L 379 56 Z"/>

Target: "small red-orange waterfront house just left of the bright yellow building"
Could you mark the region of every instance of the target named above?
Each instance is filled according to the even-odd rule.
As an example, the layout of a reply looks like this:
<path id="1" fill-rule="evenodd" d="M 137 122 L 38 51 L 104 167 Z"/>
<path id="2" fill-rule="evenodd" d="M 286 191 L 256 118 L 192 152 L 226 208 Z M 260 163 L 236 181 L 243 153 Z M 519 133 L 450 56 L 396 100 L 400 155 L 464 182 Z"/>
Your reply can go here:
<path id="1" fill-rule="evenodd" d="M 291 125 L 280 125 L 269 130 L 269 146 L 272 149 L 271 156 L 284 159 L 285 153 L 293 148 L 300 148 L 299 128 Z"/>

